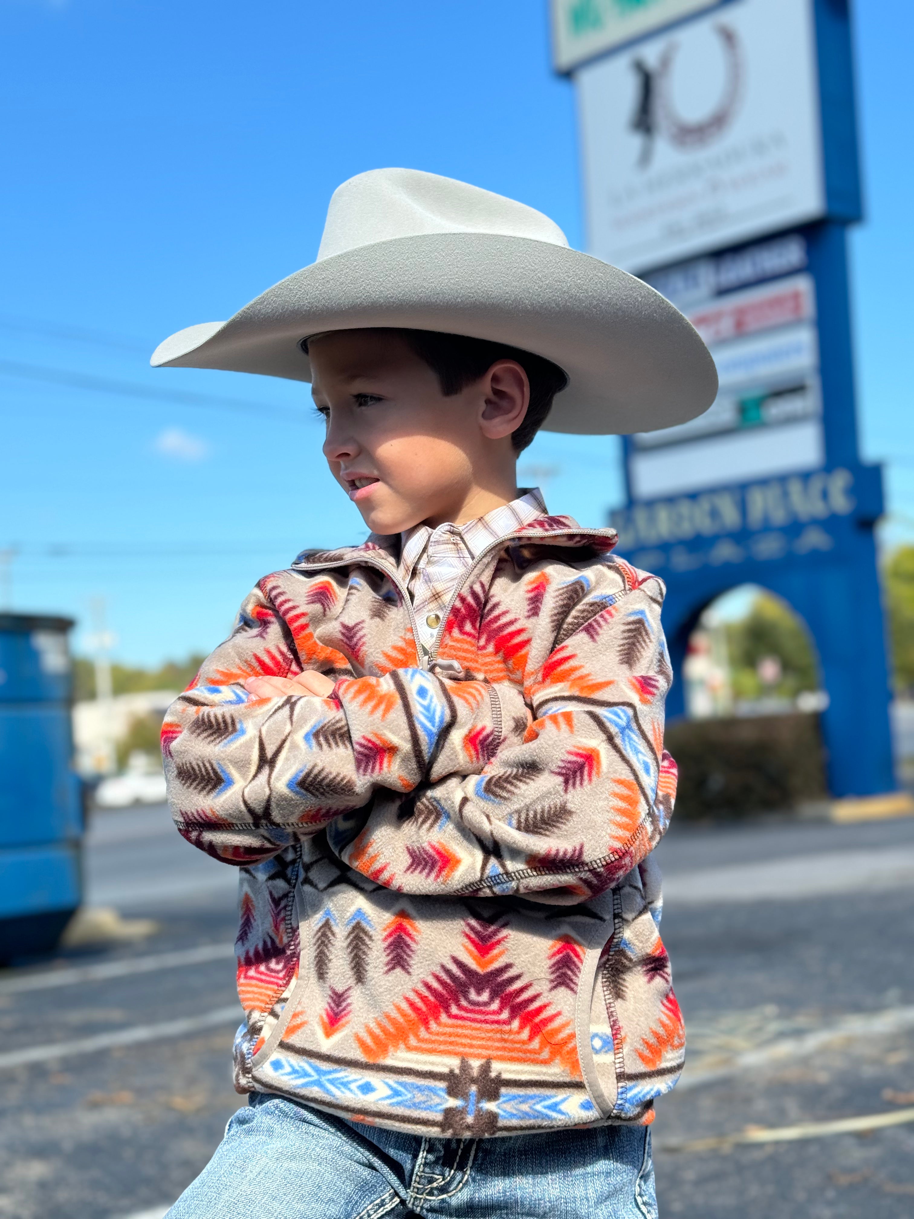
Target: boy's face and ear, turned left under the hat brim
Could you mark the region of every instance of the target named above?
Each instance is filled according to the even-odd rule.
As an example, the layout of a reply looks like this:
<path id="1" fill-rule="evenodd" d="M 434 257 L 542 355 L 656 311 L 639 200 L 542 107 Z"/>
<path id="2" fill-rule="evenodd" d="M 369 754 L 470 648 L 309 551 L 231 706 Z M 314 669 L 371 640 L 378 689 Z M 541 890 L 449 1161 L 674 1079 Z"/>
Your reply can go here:
<path id="1" fill-rule="evenodd" d="M 529 397 L 519 364 L 501 361 L 445 397 L 438 375 L 390 330 L 333 330 L 313 338 L 308 355 L 330 472 L 374 533 L 459 523 L 476 507 L 489 511 L 492 492 L 498 502 L 513 497 L 511 432 Z"/>

